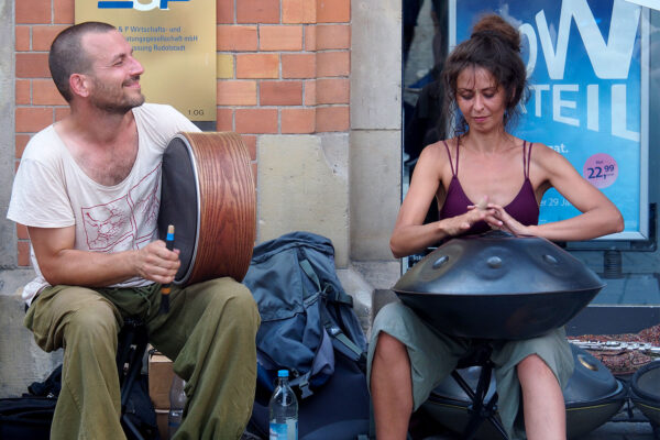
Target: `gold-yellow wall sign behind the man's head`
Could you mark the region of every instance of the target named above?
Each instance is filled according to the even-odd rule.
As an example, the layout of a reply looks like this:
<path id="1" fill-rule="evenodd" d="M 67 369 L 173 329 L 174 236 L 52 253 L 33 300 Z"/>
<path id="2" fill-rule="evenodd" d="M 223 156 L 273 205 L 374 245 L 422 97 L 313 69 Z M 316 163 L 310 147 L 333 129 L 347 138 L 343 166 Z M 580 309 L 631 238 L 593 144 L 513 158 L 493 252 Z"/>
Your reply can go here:
<path id="1" fill-rule="evenodd" d="M 76 23 L 117 26 L 131 43 L 148 102 L 216 121 L 216 0 L 76 0 L 75 14 Z"/>

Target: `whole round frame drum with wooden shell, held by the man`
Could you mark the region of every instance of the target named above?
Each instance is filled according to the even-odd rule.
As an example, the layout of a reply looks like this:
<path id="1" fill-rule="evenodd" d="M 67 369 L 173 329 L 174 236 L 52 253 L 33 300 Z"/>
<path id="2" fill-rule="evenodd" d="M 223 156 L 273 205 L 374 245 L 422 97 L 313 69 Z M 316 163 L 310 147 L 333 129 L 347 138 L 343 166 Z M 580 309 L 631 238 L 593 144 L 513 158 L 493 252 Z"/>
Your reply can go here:
<path id="1" fill-rule="evenodd" d="M 256 194 L 250 154 L 233 132 L 178 133 L 163 155 L 158 237 L 175 228 L 188 285 L 248 273 L 255 240 Z"/>

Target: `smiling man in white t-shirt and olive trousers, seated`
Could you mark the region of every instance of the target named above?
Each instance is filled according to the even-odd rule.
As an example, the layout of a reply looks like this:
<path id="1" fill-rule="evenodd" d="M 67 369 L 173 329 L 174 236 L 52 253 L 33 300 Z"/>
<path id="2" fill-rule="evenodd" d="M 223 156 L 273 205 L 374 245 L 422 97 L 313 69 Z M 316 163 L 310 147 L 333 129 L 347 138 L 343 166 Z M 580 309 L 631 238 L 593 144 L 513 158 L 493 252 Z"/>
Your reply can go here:
<path id="1" fill-rule="evenodd" d="M 176 438 L 241 437 L 251 414 L 260 317 L 230 278 L 174 287 L 160 314 L 160 285 L 178 252 L 156 240 L 162 155 L 197 128 L 169 106 L 144 103 L 143 68 L 111 25 L 64 30 L 48 57 L 70 114 L 30 141 L 8 218 L 25 224 L 37 277 L 23 297 L 25 326 L 45 351 L 64 348 L 52 439 L 122 439 L 114 363 L 122 318 L 141 318 L 151 343 L 187 381 Z"/>

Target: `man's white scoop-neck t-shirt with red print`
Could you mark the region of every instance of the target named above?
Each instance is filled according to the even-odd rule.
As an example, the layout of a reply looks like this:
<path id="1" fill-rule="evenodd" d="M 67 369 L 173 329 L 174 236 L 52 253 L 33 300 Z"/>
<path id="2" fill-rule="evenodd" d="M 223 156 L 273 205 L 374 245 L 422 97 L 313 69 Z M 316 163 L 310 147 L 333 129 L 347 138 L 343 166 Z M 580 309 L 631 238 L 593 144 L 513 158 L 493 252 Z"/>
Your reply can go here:
<path id="1" fill-rule="evenodd" d="M 132 111 L 139 147 L 133 168 L 123 182 L 105 186 L 92 180 L 51 125 L 35 134 L 23 152 L 7 218 L 37 228 L 75 224 L 74 248 L 81 251 L 138 250 L 156 240 L 163 153 L 176 133 L 199 129 L 170 106 L 145 103 Z M 37 276 L 23 289 L 23 299 L 29 304 L 50 286 L 33 249 L 30 257 Z M 135 277 L 113 287 L 151 283 Z"/>

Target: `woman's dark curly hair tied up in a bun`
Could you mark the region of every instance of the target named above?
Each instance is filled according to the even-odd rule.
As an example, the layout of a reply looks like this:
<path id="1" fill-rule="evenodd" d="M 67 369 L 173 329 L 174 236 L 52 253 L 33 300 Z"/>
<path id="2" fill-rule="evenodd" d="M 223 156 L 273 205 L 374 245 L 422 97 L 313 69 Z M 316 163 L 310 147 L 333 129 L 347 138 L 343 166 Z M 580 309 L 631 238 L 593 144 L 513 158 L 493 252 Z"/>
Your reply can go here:
<path id="1" fill-rule="evenodd" d="M 484 15 L 472 29 L 470 40 L 454 47 L 444 62 L 444 114 L 458 116 L 452 121 L 454 135 L 465 134 L 468 122 L 457 108 L 457 80 L 465 68 L 485 68 L 507 96 L 504 124 L 509 125 L 520 114 L 518 103 L 527 100 L 527 70 L 520 58 L 520 34 L 496 14 Z M 452 118 L 453 119 L 453 118 Z"/>

